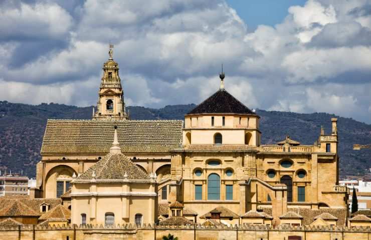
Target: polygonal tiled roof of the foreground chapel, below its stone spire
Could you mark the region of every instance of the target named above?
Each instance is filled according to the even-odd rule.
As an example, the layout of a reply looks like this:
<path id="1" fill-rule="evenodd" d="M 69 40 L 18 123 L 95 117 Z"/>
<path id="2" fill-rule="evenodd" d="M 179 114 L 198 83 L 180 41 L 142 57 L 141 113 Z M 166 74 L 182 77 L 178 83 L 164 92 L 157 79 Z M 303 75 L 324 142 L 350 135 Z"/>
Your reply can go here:
<path id="1" fill-rule="evenodd" d="M 89 167 L 83 174 L 73 180 L 73 182 L 83 182 L 93 179 L 128 179 L 131 181 L 150 181 L 149 175 L 134 164 L 129 157 L 124 154 L 107 154 L 93 166 Z M 125 175 L 126 173 L 126 175 Z"/>

